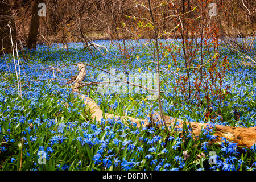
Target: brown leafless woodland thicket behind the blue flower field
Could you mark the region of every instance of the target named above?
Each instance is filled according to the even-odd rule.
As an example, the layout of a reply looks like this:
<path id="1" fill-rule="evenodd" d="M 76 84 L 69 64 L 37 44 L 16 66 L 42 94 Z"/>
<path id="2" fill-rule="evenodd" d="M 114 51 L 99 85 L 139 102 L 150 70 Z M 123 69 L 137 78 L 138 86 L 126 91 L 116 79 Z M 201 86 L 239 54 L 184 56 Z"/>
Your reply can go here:
<path id="1" fill-rule="evenodd" d="M 38 14 L 38 4 L 42 2 L 46 4 L 46 16 L 34 16 Z M 152 1 L 151 3 L 157 4 L 159 2 Z M 23 47 L 28 47 L 28 49 L 35 49 L 35 43 L 50 46 L 56 42 L 84 42 L 88 44 L 91 40 L 96 39 L 154 38 L 154 31 L 151 28 L 143 28 L 142 30 L 137 26 L 137 23 L 142 19 L 133 18 L 150 18 L 150 12 L 131 0 L 2 0 L 0 3 L 1 40 L 9 35 L 10 30 L 6 23 L 11 20 L 11 27 L 14 31 L 13 38 L 16 38 L 19 44 L 22 43 Z M 145 2 L 137 1 L 137 3 Z M 210 17 L 208 15 L 209 3 L 216 3 L 217 16 Z M 191 12 L 195 7 L 197 9 Z M 171 15 L 180 13 L 185 33 L 184 35 L 181 34 L 181 28 L 177 28 L 171 34 L 163 34 L 161 38 L 196 39 L 213 36 L 213 32 L 207 34 L 210 27 L 213 27 L 212 29 L 218 37 L 232 38 L 232 40 L 236 37 L 255 36 L 256 9 L 253 0 L 177 0 L 168 6 L 164 6 L 164 9 L 163 15 L 161 11 L 155 11 L 154 14 L 158 18 L 162 16 L 170 17 L 162 22 L 160 31 L 170 32 L 176 27 L 179 19 L 175 16 L 171 17 Z M 128 18 L 128 16 L 131 18 Z M 123 30 L 123 24 L 137 37 Z M 5 41 L 8 42 L 9 40 L 3 40 L 3 44 L 5 44 Z M 10 45 L 10 43 L 7 44 Z M 10 51 L 10 48 L 7 49 Z"/>

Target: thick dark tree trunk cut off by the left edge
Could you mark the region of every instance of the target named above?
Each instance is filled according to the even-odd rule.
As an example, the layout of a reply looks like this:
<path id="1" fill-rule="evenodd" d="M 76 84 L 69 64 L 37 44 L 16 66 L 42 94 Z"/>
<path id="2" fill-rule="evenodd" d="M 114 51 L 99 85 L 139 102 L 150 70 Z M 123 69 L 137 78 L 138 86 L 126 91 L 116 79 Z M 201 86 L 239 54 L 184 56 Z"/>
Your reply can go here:
<path id="1" fill-rule="evenodd" d="M 11 31 L 10 31 L 10 27 Z M 11 33 L 11 34 L 10 34 Z M 11 36 L 16 42 L 16 26 L 8 0 L 0 1 L 0 55 L 11 53 Z"/>

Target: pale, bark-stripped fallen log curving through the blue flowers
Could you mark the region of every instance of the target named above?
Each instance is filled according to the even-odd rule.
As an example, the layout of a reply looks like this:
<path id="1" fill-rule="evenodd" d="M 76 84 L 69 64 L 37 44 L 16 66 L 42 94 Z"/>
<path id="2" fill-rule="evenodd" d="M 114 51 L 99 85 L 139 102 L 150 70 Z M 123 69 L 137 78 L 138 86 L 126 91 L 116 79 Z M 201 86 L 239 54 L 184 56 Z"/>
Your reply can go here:
<path id="1" fill-rule="evenodd" d="M 79 75 L 75 80 L 75 84 L 72 86 L 72 92 L 76 92 L 79 94 L 79 85 L 81 81 L 84 80 L 86 76 L 85 65 L 83 63 L 79 63 Z M 85 104 L 88 106 L 92 119 L 95 119 L 98 122 L 101 122 L 103 117 L 103 111 L 100 107 L 93 101 L 91 98 L 86 97 L 85 95 L 81 95 L 80 97 L 84 99 Z M 156 125 L 157 128 L 162 128 L 163 122 L 160 121 L 160 117 L 158 113 L 153 113 L 148 115 L 151 121 L 147 121 L 146 119 L 137 119 L 133 117 L 124 117 L 117 116 L 113 114 L 105 113 L 105 119 L 115 117 L 115 119 L 120 118 L 122 121 L 127 122 L 129 119 L 131 122 L 137 124 L 137 127 L 152 127 L 152 123 L 158 123 Z M 182 120 L 177 120 L 175 118 L 171 118 L 170 116 L 164 116 L 167 126 L 174 126 L 176 129 L 183 129 L 184 125 L 189 125 L 191 127 L 193 138 L 197 139 L 201 133 L 202 129 L 213 129 L 215 139 L 212 142 L 221 142 L 221 137 L 225 137 L 226 140 L 233 141 L 237 143 L 238 147 L 247 147 L 250 148 L 256 143 L 256 127 L 250 128 L 242 128 L 242 127 L 231 127 L 231 126 L 222 126 L 222 125 L 209 125 L 209 123 L 197 123 L 197 122 L 187 122 Z"/>

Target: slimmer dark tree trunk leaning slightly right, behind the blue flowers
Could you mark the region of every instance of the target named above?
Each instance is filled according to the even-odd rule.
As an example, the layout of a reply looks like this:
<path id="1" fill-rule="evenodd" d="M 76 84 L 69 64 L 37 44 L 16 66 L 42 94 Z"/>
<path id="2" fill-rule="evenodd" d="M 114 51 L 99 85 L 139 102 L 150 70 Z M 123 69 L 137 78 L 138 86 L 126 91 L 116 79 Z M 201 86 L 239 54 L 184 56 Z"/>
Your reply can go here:
<path id="1" fill-rule="evenodd" d="M 27 48 L 28 49 L 36 49 L 36 42 L 38 40 L 38 28 L 39 28 L 39 18 L 38 15 L 38 4 L 42 2 L 42 0 L 35 0 L 33 8 L 32 8 L 32 18 L 30 23 L 30 32 L 28 34 Z"/>

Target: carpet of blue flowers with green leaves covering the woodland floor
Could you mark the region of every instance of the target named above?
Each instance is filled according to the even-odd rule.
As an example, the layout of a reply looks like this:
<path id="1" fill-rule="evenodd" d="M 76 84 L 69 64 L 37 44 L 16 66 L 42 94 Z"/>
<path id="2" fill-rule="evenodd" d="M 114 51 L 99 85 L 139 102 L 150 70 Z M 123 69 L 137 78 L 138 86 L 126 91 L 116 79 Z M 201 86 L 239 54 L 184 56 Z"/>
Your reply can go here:
<path id="1" fill-rule="evenodd" d="M 146 41 L 146 40 L 143 40 Z M 127 41 L 128 42 L 128 41 Z M 222 142 L 210 145 L 214 137 L 204 129 L 198 140 L 193 140 L 187 129 L 167 136 L 164 130 L 137 128 L 134 123 L 125 125 L 119 119 L 102 118 L 93 121 L 86 105 L 71 94 L 67 80 L 78 73 L 74 63 L 84 62 L 110 71 L 123 72 L 123 57 L 118 46 L 109 41 L 97 41 L 109 52 L 92 48 L 93 57 L 84 50 L 82 43 L 70 43 L 69 52 L 62 44 L 51 48 L 39 45 L 37 51 L 26 51 L 27 60 L 20 52 L 22 96 L 18 87 L 13 56 L 0 60 L 0 169 L 1 170 L 254 170 L 256 151 L 244 148 L 238 151 L 236 143 Z M 134 46 L 127 60 L 127 71 L 154 72 L 153 64 L 143 64 L 152 59 L 142 44 L 130 41 Z M 256 47 L 256 46 L 255 46 Z M 236 127 L 256 126 L 256 72 L 255 68 L 238 64 L 236 53 L 223 49 L 232 68 L 224 85 L 232 85 L 229 94 L 221 102 L 223 120 L 213 119 L 212 125 Z M 136 56 L 139 55 L 139 62 Z M 177 59 L 179 63 L 181 59 Z M 16 62 L 16 65 L 18 63 Z M 61 67 L 62 65 L 69 65 Z M 166 57 L 166 67 L 174 68 L 171 58 Z M 60 67 L 53 72 L 52 67 Z M 175 68 L 174 68 L 175 70 Z M 84 82 L 100 81 L 102 71 L 86 67 Z M 25 74 L 26 73 L 26 74 Z M 164 77 L 164 75 L 162 76 Z M 59 79 L 50 81 L 47 79 Z M 183 95 L 175 96 L 172 76 L 165 78 L 168 84 L 162 89 L 165 115 L 191 122 L 205 121 L 205 108 L 183 102 Z M 27 80 L 42 80 L 26 82 Z M 106 94 L 97 92 L 97 85 L 81 88 L 81 93 L 92 98 L 106 113 L 128 115 L 147 119 L 151 109 L 158 111 L 157 102 L 146 100 L 146 94 Z M 217 108 L 213 107 L 213 110 Z M 240 112 L 237 122 L 234 109 Z M 209 155 L 214 151 L 216 155 Z M 42 163 L 43 162 L 43 163 Z"/>

